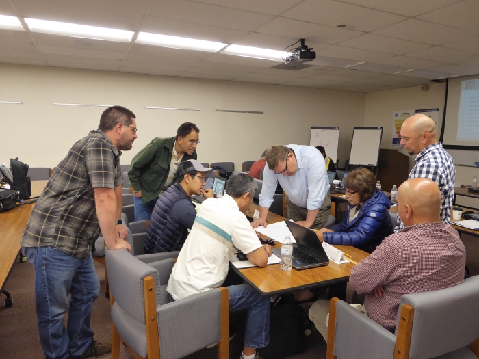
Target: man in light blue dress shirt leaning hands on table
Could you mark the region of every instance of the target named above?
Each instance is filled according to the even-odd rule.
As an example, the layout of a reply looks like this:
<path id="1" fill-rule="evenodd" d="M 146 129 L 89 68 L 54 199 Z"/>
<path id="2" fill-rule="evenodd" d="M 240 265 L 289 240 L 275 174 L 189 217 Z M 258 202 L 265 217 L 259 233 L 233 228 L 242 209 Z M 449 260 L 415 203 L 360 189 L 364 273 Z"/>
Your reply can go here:
<path id="1" fill-rule="evenodd" d="M 259 194 L 259 219 L 251 224 L 266 227 L 266 216 L 279 183 L 287 196 L 288 217 L 307 228 L 326 226 L 331 208 L 329 181 L 321 153 L 312 146 L 272 146 L 266 153 L 263 188 Z"/>

